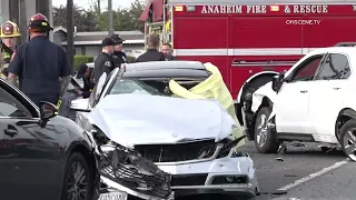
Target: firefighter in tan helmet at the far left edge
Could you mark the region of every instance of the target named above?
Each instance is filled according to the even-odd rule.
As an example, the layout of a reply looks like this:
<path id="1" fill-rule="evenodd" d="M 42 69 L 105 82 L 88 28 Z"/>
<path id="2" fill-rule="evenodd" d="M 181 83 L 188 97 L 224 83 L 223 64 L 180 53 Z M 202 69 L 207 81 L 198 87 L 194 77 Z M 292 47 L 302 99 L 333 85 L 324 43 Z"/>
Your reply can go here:
<path id="1" fill-rule="evenodd" d="M 7 79 L 8 66 L 11 60 L 13 49 L 16 48 L 17 39 L 20 37 L 19 27 L 12 21 L 7 21 L 1 24 L 1 60 L 0 60 L 0 78 Z"/>

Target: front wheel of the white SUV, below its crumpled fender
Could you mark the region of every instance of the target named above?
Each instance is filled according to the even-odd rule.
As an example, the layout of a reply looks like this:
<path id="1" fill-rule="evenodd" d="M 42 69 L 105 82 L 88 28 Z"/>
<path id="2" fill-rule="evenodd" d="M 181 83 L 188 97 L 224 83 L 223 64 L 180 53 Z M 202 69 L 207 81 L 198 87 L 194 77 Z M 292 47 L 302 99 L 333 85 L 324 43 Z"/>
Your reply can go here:
<path id="1" fill-rule="evenodd" d="M 276 153 L 279 148 L 279 142 L 276 139 L 276 132 L 274 129 L 267 128 L 267 120 L 271 113 L 269 107 L 263 107 L 259 109 L 255 123 L 255 147 L 260 153 Z M 263 122 L 263 124 L 261 124 Z M 265 129 L 265 130 L 261 130 Z M 264 136 L 261 131 L 264 132 Z M 263 137 L 263 138 L 258 138 Z"/>

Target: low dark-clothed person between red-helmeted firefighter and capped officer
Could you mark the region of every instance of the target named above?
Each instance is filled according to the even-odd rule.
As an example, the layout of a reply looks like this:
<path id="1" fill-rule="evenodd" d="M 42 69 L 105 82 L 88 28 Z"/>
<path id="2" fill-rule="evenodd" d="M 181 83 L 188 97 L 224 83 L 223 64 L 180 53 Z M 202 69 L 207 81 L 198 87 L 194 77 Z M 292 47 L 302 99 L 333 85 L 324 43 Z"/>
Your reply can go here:
<path id="1" fill-rule="evenodd" d="M 77 73 L 77 79 L 82 79 L 83 87 L 76 88 L 78 96 L 82 97 L 83 99 L 89 98 L 91 90 L 95 87 L 95 83 L 90 80 L 92 69 L 89 68 L 87 64 L 80 64 Z"/>

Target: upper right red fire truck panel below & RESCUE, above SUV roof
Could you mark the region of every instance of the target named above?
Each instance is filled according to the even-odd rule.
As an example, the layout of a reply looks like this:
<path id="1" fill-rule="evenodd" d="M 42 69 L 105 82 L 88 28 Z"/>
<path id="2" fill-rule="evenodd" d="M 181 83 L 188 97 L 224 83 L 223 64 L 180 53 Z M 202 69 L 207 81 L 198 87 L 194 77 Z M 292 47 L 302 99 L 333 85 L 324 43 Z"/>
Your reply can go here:
<path id="1" fill-rule="evenodd" d="M 307 17 L 314 26 L 305 26 L 304 43 L 310 48 L 335 46 L 338 42 L 356 41 L 356 16 Z"/>

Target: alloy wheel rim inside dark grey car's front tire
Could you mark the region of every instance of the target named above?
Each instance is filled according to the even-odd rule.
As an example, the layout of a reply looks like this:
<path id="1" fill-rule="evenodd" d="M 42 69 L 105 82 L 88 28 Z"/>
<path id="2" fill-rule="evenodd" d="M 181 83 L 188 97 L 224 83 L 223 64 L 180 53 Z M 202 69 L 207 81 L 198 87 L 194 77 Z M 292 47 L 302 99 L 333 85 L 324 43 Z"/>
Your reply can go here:
<path id="1" fill-rule="evenodd" d="M 72 163 L 67 180 L 68 200 L 87 200 L 88 199 L 89 177 L 86 168 L 79 161 Z"/>

